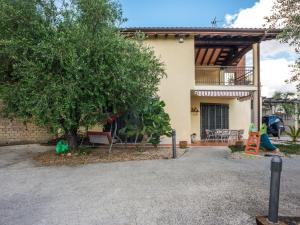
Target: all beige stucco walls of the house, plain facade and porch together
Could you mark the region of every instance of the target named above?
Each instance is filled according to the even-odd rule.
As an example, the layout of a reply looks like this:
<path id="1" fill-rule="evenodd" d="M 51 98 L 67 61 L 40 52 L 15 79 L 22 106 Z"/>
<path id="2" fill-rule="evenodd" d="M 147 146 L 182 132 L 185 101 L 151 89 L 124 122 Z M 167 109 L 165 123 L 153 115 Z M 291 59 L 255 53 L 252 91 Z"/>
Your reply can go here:
<path id="1" fill-rule="evenodd" d="M 158 95 L 166 103 L 171 125 L 177 131 L 177 141 L 190 142 L 192 133 L 200 137 L 200 113 L 191 113 L 193 106 L 199 109 L 200 102 L 228 104 L 229 128 L 244 129 L 244 138 L 247 138 L 251 122 L 250 100 L 240 102 L 236 98 L 191 96 L 191 90 L 195 89 L 195 74 L 197 76 L 193 38 L 185 39 L 184 43 L 179 43 L 174 37 L 153 38 L 146 40 L 145 44 L 153 47 L 155 54 L 165 64 L 167 77 L 161 81 Z M 217 79 L 218 73 L 214 71 L 209 76 Z M 233 87 L 223 88 L 226 90 Z M 171 140 L 164 138 L 162 143 L 171 143 Z"/>

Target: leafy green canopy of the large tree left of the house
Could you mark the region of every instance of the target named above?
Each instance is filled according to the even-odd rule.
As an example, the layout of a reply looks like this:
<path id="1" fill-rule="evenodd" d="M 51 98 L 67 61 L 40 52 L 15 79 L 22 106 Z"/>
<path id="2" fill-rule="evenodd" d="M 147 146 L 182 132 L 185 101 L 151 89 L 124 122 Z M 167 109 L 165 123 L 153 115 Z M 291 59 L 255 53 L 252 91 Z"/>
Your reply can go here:
<path id="1" fill-rule="evenodd" d="M 141 35 L 120 34 L 115 1 L 54 2 L 0 0 L 0 84 L 6 116 L 63 129 L 74 142 L 80 126 L 145 104 L 165 73 Z"/>

